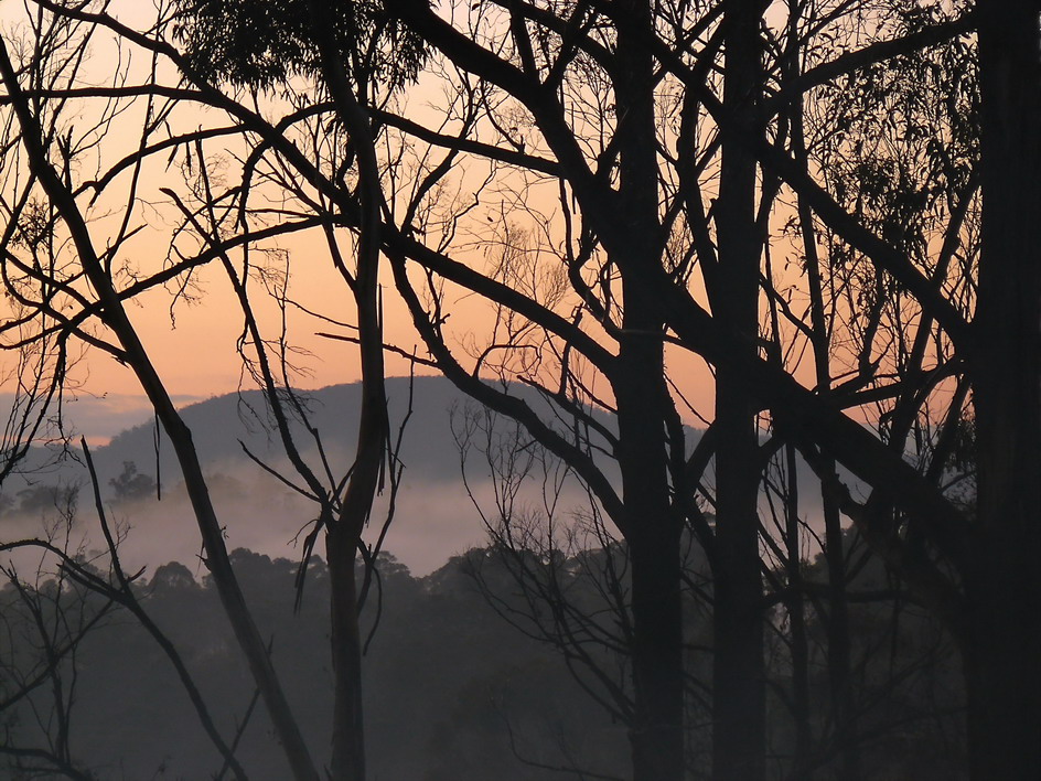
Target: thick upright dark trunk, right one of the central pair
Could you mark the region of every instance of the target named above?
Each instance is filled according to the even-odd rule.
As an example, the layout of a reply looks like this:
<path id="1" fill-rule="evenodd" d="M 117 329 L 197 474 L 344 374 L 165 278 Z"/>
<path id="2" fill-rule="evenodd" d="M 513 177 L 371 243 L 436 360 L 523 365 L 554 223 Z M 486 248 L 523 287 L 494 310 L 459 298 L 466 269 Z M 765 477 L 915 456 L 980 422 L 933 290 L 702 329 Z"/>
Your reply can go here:
<path id="1" fill-rule="evenodd" d="M 755 132 L 762 87 L 761 3 L 730 4 L 723 104 L 731 127 Z M 755 228 L 755 159 L 745 138 L 725 138 L 716 233 L 719 268 L 712 308 L 741 349 L 758 354 L 761 245 Z M 717 366 L 715 661 L 712 773 L 719 781 L 754 781 L 765 772 L 765 684 L 762 576 L 759 555 L 758 407 L 753 388 L 730 365 Z"/>

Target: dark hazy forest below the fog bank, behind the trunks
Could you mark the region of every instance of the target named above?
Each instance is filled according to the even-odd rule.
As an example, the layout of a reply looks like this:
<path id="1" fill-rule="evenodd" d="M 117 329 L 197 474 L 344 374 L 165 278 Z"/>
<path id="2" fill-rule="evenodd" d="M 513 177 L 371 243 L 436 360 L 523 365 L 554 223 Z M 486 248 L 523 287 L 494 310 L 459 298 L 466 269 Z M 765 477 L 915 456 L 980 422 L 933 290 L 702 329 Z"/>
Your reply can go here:
<path id="1" fill-rule="evenodd" d="M 552 642 L 551 631 L 551 613 L 572 610 L 601 623 L 608 633 L 616 629 L 618 614 L 604 598 L 604 587 L 616 586 L 624 595 L 630 584 L 624 574 L 618 584 L 605 580 L 607 559 L 612 556 L 622 558 L 616 549 L 570 556 L 558 550 L 547 556 L 491 545 L 453 557 L 421 578 L 412 577 L 393 556 L 380 556 L 379 587 L 371 592 L 363 621 L 372 777 L 540 781 L 570 771 L 575 778 L 619 778 L 629 761 L 626 729 L 588 689 L 592 683 L 592 691 L 598 691 L 591 682 L 593 667 L 620 688 L 631 688 L 627 652 L 592 638 L 581 649 L 569 649 L 567 642 Z M 324 563 L 312 561 L 298 605 L 298 563 L 242 548 L 230 558 L 256 606 L 258 624 L 303 729 L 319 745 L 329 745 L 332 689 L 322 653 L 329 610 Z M 697 577 L 699 565 L 688 565 L 691 577 Z M 820 567 L 819 561 L 807 564 L 807 575 Z M 282 779 L 285 757 L 272 740 L 266 713 L 256 707 L 255 684 L 242 665 L 218 595 L 208 577 L 200 579 L 201 571 L 198 566 L 193 571 L 170 563 L 141 578 L 135 590 L 206 693 L 215 723 L 236 736 L 236 755 L 248 777 Z M 888 580 L 876 564 L 858 576 L 856 589 L 879 592 Z M 545 589 L 551 581 L 558 602 L 533 600 L 532 589 L 539 585 Z M 62 680 L 69 759 L 81 778 L 226 777 L 227 768 L 155 640 L 126 610 L 110 609 L 98 593 L 78 591 L 68 582 L 61 592 L 57 588 L 56 580 L 45 579 L 37 589 L 8 582 L 0 590 L 0 698 L 12 693 L 15 682 L 40 673 Z M 710 595 L 687 595 L 688 698 L 699 704 L 691 706 L 688 718 L 694 769 L 707 767 L 710 746 L 707 699 L 697 683 L 711 666 L 709 612 L 701 601 L 706 596 Z M 65 635 L 58 627 L 65 623 L 71 629 L 73 617 L 81 627 L 96 617 L 100 620 L 82 638 Z M 771 617 L 776 621 L 768 628 L 776 633 L 768 665 L 773 693 L 771 755 L 774 762 L 786 764 L 796 732 L 791 703 L 784 702 L 792 665 L 781 640 L 786 631 L 783 611 Z M 823 616 L 807 621 L 814 651 L 806 695 L 815 700 L 812 712 L 817 714 L 828 712 L 824 622 Z M 851 686 L 865 778 L 960 778 L 964 695 L 949 640 L 926 612 L 909 605 L 865 601 L 854 609 L 852 624 Z M 53 670 L 45 638 L 55 645 L 76 643 Z M 579 652 L 590 666 L 583 668 L 577 661 Z M 40 686 L 3 710 L 6 746 L 54 745 L 55 721 L 49 714 L 55 691 Z M 815 734 L 829 734 L 834 727 L 826 720 L 825 715 L 814 725 Z M 814 746 L 818 771 L 834 770 L 834 745 L 825 738 Z M 30 771 L 33 766 L 25 760 L 9 756 L 0 766 L 4 778 L 52 777 Z M 695 772 L 693 778 L 705 775 Z"/>

